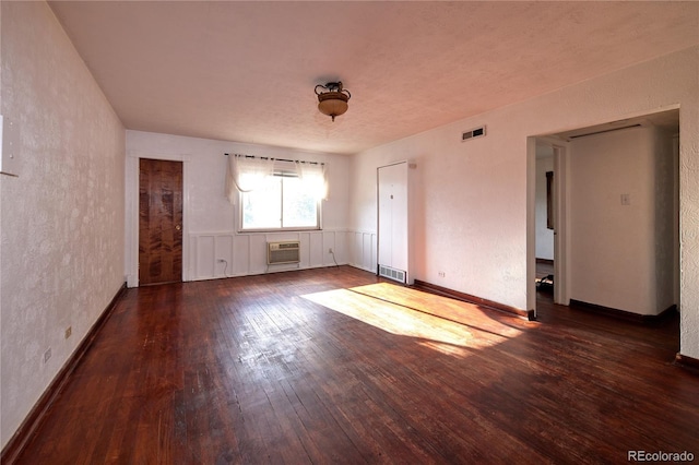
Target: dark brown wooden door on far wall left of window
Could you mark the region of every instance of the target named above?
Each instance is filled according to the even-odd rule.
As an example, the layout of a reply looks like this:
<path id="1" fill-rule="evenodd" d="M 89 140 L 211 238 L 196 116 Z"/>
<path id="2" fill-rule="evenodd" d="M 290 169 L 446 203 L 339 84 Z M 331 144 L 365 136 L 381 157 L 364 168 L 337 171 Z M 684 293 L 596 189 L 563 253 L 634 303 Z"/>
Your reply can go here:
<path id="1" fill-rule="evenodd" d="M 139 284 L 182 281 L 182 164 L 142 158 Z"/>

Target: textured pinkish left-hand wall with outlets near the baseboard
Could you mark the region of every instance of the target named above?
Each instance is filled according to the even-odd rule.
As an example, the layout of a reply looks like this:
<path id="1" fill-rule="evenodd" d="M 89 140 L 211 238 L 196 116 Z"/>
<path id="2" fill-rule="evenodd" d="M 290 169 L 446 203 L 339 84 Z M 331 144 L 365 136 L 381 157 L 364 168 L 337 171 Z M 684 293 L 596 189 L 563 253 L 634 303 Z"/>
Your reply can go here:
<path id="1" fill-rule="evenodd" d="M 0 179 L 4 446 L 123 283 L 125 129 L 46 3 L 0 8 L 19 130 L 19 177 Z"/>

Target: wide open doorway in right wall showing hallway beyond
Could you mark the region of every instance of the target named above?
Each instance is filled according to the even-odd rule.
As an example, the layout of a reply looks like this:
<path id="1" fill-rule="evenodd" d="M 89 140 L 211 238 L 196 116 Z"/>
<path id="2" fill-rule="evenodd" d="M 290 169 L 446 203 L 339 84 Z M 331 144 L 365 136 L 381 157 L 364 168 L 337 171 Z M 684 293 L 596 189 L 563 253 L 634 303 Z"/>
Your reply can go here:
<path id="1" fill-rule="evenodd" d="M 640 320 L 678 308 L 679 111 L 541 135 L 529 147 L 529 291 Z"/>

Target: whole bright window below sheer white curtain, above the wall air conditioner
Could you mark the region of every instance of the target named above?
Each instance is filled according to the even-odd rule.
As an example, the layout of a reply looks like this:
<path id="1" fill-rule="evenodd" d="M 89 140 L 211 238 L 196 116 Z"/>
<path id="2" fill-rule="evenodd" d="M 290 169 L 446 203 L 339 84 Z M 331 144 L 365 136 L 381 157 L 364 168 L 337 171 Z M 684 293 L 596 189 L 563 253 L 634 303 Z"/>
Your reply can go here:
<path id="1" fill-rule="evenodd" d="M 275 171 L 258 188 L 240 193 L 240 229 L 320 229 L 320 198 L 313 182 Z"/>

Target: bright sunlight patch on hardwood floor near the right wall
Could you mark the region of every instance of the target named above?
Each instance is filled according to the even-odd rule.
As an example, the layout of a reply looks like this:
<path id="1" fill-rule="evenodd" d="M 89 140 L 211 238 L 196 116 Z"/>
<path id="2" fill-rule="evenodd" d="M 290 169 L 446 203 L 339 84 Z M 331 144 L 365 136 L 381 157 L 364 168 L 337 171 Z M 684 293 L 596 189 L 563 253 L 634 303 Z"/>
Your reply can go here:
<path id="1" fill-rule="evenodd" d="M 467 349 L 489 347 L 521 333 L 466 303 L 387 283 L 303 297 L 391 334 L 422 339 L 420 345 L 451 356 L 464 357 Z M 471 312 L 473 325 L 443 318 L 445 313 L 455 315 L 459 305 L 460 318 L 466 319 Z"/>

